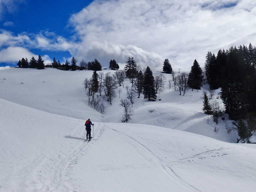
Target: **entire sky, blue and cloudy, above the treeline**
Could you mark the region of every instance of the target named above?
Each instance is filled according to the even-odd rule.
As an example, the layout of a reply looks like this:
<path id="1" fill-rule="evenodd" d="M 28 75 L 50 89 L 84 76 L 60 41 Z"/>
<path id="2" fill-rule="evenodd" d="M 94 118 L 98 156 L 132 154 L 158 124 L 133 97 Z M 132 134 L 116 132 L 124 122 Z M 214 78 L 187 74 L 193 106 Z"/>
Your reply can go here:
<path id="1" fill-rule="evenodd" d="M 64 63 L 133 57 L 141 69 L 204 66 L 208 51 L 256 46 L 255 0 L 0 0 L 0 63 L 24 58 Z"/>

